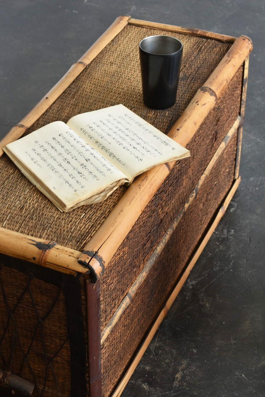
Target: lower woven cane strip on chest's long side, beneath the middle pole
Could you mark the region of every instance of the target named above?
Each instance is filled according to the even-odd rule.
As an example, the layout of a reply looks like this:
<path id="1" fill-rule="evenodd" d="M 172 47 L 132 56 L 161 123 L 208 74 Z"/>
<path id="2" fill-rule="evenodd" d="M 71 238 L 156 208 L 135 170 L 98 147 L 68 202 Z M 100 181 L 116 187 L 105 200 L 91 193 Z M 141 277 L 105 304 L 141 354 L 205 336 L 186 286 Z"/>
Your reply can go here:
<path id="1" fill-rule="evenodd" d="M 103 396 L 112 395 L 145 334 L 233 183 L 236 135 L 198 191 L 168 245 L 101 349 Z"/>

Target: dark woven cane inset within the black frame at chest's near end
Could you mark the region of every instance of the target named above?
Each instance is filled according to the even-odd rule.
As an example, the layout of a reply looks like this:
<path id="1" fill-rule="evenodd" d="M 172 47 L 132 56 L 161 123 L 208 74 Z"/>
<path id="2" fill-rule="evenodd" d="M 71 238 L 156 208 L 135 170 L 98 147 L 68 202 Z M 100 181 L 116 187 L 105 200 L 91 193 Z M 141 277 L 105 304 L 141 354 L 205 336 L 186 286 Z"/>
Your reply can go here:
<path id="1" fill-rule="evenodd" d="M 7 304 L 13 311 L 11 317 Z M 2 264 L 0 368 L 36 382 L 33 397 L 70 396 L 70 348 L 63 292 L 31 273 Z"/>

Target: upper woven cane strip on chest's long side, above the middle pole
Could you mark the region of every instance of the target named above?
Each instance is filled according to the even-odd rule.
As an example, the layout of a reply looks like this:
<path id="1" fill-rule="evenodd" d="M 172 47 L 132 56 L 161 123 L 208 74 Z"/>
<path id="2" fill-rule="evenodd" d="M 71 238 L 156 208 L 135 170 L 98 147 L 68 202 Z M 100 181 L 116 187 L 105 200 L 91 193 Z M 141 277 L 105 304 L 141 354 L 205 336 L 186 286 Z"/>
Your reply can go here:
<path id="1" fill-rule="evenodd" d="M 101 278 L 101 329 L 111 318 L 233 125 L 239 114 L 241 79 L 242 68 L 187 146 L 191 157 L 176 163 L 105 270 Z"/>

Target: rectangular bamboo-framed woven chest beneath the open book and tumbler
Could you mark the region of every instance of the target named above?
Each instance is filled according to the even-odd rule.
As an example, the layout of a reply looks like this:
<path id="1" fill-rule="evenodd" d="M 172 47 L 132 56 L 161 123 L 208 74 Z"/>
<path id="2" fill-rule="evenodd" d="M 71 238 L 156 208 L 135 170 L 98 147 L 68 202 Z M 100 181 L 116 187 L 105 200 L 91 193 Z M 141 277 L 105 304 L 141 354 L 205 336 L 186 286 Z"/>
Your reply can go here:
<path id="1" fill-rule="evenodd" d="M 166 110 L 141 91 L 138 43 L 159 34 L 183 42 Z M 1 395 L 121 395 L 240 183 L 251 50 L 246 36 L 118 17 L 2 140 L 122 103 L 191 157 L 61 213 L 2 153 Z"/>

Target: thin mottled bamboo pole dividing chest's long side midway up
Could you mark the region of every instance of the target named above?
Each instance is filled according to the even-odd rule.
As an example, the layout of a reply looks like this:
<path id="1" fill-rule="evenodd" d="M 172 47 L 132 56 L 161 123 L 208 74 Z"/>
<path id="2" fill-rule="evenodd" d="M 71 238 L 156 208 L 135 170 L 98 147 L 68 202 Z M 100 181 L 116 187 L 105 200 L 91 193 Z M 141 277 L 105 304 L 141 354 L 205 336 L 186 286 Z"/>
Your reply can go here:
<path id="1" fill-rule="evenodd" d="M 160 253 L 164 249 L 165 245 L 168 243 L 172 233 L 176 229 L 176 227 L 179 224 L 181 218 L 183 217 L 183 215 L 185 214 L 185 212 L 187 211 L 187 209 L 189 208 L 189 206 L 191 205 L 193 200 L 196 199 L 196 197 L 198 195 L 198 191 L 200 190 L 200 187 L 203 185 L 205 179 L 210 174 L 211 170 L 213 169 L 213 167 L 216 164 L 217 160 L 220 158 L 220 156 L 222 155 L 223 151 L 225 150 L 225 148 L 227 147 L 227 145 L 231 141 L 231 139 L 234 136 L 234 134 L 238 131 L 238 127 L 240 126 L 240 122 L 241 122 L 241 118 L 240 118 L 240 116 L 238 116 L 236 118 L 236 120 L 234 121 L 232 127 L 229 129 L 227 135 L 225 136 L 225 138 L 221 142 L 219 148 L 215 152 L 215 154 L 212 157 L 211 161 L 209 162 L 208 166 L 204 170 L 202 176 L 200 177 L 200 179 L 196 183 L 193 191 L 189 195 L 189 198 L 185 202 L 184 206 L 178 212 L 177 216 L 173 220 L 173 222 L 170 225 L 170 227 L 168 228 L 168 230 L 164 233 L 162 239 L 160 240 L 160 242 L 158 243 L 158 245 L 154 249 L 153 253 L 151 254 L 149 259 L 147 260 L 145 266 L 143 267 L 143 269 L 139 273 L 139 276 L 136 278 L 136 280 L 134 281 L 134 283 L 130 287 L 128 293 L 125 295 L 124 299 L 122 299 L 122 302 L 118 306 L 117 310 L 114 312 L 114 314 L 112 315 L 111 319 L 109 320 L 109 322 L 107 323 L 107 325 L 105 326 L 103 331 L 101 332 L 101 345 L 103 345 L 103 343 L 105 342 L 107 337 L 110 335 L 111 331 L 113 330 L 114 326 L 120 320 L 120 318 L 121 318 L 122 314 L 124 313 L 124 311 L 126 310 L 126 308 L 132 302 L 132 299 L 133 299 L 135 293 L 137 292 L 137 290 L 139 289 L 139 287 L 141 286 L 141 284 L 143 283 L 145 278 L 148 276 L 151 268 L 153 267 L 153 264 L 156 262 L 156 260 L 159 257 Z"/>

